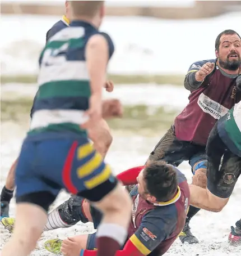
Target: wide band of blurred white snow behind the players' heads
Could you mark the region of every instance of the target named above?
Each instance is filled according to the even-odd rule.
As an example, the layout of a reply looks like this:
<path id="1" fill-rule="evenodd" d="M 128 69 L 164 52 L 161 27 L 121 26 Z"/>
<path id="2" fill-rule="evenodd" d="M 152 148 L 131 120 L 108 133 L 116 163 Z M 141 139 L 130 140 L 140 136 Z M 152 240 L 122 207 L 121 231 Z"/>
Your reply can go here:
<path id="1" fill-rule="evenodd" d="M 2 74 L 33 74 L 45 35 L 59 20 L 54 16 L 1 15 Z M 215 58 L 215 39 L 225 29 L 240 33 L 241 12 L 202 20 L 162 20 L 150 17 L 106 17 L 116 51 L 110 73 L 182 74 L 198 60 Z"/>

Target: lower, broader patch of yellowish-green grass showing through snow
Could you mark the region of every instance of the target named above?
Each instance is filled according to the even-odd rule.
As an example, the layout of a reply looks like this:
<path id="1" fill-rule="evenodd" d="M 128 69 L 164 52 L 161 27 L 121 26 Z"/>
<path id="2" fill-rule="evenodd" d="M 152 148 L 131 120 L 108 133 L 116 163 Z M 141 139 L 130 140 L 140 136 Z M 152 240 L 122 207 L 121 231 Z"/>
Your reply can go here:
<path id="1" fill-rule="evenodd" d="M 1 121 L 29 122 L 33 100 L 1 100 Z M 163 131 L 173 123 L 177 112 L 166 112 L 163 107 L 151 109 L 146 105 L 124 106 L 123 118 L 108 120 L 110 128 L 119 131 Z"/>

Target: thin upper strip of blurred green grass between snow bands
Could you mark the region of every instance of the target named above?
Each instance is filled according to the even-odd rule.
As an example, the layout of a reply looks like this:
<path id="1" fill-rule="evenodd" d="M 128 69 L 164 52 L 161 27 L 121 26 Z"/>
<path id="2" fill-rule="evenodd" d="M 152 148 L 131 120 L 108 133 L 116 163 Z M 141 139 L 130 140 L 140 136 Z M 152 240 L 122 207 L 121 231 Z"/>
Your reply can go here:
<path id="1" fill-rule="evenodd" d="M 108 75 L 108 79 L 115 84 L 156 83 L 182 86 L 184 75 Z M 4 83 L 36 83 L 36 75 L 1 75 L 1 84 Z"/>

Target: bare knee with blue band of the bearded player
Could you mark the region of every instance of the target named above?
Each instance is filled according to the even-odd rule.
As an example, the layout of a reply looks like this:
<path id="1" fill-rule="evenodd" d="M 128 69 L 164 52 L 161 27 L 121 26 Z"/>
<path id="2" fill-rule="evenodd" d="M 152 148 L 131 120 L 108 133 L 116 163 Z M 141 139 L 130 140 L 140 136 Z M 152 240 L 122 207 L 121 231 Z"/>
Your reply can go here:
<path id="1" fill-rule="evenodd" d="M 192 184 L 198 187 L 206 188 L 207 186 L 207 160 L 200 160 L 193 165 Z"/>

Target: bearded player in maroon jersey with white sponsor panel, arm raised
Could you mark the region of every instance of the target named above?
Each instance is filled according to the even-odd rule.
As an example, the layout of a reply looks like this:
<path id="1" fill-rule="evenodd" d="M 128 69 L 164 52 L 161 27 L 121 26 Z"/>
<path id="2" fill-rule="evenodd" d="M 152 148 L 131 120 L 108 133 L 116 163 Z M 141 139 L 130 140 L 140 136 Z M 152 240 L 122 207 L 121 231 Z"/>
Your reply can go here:
<path id="1" fill-rule="evenodd" d="M 189 104 L 157 143 L 148 161 L 165 160 L 178 166 L 188 160 L 194 174 L 193 185 L 206 187 L 208 134 L 216 121 L 241 100 L 236 84 L 241 65 L 240 44 L 237 32 L 225 30 L 216 38 L 216 59 L 197 61 L 190 66 L 184 80 L 185 88 L 191 91 Z M 193 206 L 189 209 L 186 226 L 179 236 L 183 243 L 198 242 L 190 231 L 189 221 L 199 210 Z"/>

